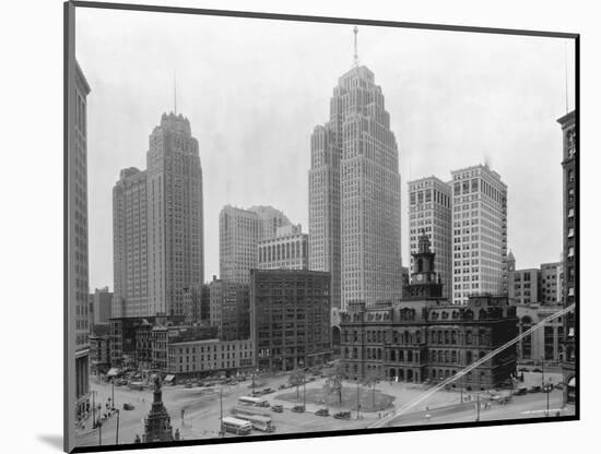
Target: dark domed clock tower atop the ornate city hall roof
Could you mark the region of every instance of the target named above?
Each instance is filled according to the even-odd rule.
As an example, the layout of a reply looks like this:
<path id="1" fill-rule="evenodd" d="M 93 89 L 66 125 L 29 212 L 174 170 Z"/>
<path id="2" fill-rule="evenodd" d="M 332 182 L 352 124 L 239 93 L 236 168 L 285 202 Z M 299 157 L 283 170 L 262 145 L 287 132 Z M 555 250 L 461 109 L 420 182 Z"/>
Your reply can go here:
<path id="1" fill-rule="evenodd" d="M 429 247 L 429 239 L 422 230 L 417 252 L 413 254 L 413 271 L 411 284 L 406 287 L 409 298 L 440 298 L 443 284 L 434 268 L 434 256 Z"/>

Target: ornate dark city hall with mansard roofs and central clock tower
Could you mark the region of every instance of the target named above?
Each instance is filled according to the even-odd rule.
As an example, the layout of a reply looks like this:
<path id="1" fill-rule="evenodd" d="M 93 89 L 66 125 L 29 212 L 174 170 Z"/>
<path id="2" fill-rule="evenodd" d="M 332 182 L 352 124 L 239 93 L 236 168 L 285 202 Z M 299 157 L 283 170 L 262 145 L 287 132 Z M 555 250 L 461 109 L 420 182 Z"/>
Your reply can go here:
<path id="1" fill-rule="evenodd" d="M 439 382 L 517 335 L 516 308 L 505 296 L 471 296 L 467 304 L 441 297 L 426 236 L 413 254 L 412 283 L 399 302 L 350 304 L 342 314 L 341 360 L 346 377 Z M 507 348 L 451 386 L 484 390 L 510 381 L 516 349 Z"/>

